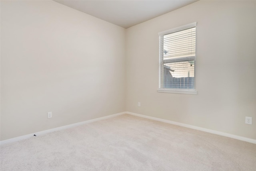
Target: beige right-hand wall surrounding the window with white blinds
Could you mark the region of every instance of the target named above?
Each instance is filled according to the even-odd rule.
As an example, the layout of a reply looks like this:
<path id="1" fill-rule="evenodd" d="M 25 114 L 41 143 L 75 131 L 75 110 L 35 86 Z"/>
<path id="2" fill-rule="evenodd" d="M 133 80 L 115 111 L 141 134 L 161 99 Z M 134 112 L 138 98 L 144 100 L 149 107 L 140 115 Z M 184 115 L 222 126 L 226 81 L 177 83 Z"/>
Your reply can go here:
<path id="1" fill-rule="evenodd" d="M 128 28 L 127 111 L 256 139 L 255 18 L 256 1 L 199 1 Z M 158 32 L 192 22 L 198 94 L 157 92 Z"/>

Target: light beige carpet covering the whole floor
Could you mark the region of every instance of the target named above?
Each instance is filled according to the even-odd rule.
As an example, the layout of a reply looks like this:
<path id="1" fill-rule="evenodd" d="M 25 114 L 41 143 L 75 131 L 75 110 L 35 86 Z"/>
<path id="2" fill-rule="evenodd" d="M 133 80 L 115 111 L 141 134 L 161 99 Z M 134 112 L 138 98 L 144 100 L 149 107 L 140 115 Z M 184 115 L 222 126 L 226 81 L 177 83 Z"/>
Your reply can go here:
<path id="1" fill-rule="evenodd" d="M 1 171 L 255 171 L 256 144 L 128 114 L 1 146 Z"/>

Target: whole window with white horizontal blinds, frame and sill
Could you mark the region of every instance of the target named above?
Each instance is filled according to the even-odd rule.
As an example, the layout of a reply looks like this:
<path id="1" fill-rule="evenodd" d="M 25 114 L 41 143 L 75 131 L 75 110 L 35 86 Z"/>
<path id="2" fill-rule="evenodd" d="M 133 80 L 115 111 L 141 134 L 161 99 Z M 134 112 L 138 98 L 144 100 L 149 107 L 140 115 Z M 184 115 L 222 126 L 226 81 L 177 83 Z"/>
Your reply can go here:
<path id="1" fill-rule="evenodd" d="M 158 33 L 158 92 L 197 94 L 195 89 L 196 22 Z"/>

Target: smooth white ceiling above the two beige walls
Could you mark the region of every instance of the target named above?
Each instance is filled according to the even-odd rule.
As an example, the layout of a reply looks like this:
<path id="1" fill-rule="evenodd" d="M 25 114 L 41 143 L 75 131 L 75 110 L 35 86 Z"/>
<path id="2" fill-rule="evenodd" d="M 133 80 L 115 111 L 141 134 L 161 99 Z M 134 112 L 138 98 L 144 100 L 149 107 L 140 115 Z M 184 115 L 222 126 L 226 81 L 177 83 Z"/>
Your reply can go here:
<path id="1" fill-rule="evenodd" d="M 161 16 L 197 0 L 54 0 L 123 28 Z"/>

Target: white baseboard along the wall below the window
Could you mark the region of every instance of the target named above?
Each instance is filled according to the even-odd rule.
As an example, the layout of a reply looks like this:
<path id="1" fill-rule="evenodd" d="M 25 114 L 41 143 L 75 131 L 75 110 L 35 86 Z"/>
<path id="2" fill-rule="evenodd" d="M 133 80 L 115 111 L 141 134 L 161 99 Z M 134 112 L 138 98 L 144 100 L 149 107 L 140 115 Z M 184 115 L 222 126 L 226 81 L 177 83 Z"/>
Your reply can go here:
<path id="1" fill-rule="evenodd" d="M 194 130 L 209 132 L 209 133 L 212 133 L 212 134 L 217 134 L 217 135 L 220 135 L 220 136 L 225 136 L 225 137 L 234 138 L 234 139 L 237 139 L 237 140 L 242 140 L 242 141 L 245 141 L 245 142 L 250 142 L 250 143 L 255 143 L 256 144 L 256 140 L 251 139 L 251 138 L 236 136 L 236 135 L 228 134 L 228 133 L 225 133 L 225 132 L 209 130 L 209 129 L 206 129 L 206 128 L 201 128 L 201 127 L 197 127 L 197 126 L 192 126 L 192 125 L 183 124 L 183 123 L 180 123 L 180 122 L 174 122 L 174 121 L 165 120 L 165 119 L 160 119 L 160 118 L 154 118 L 152 116 L 146 116 L 146 115 L 136 114 L 136 113 L 132 113 L 132 112 L 126 112 L 126 114 L 131 114 L 131 115 L 139 116 L 139 117 L 142 117 L 142 118 L 148 118 L 148 119 L 151 119 L 151 120 L 156 120 L 156 121 L 165 122 L 165 123 L 168 123 L 168 124 L 183 126 L 183 127 L 191 128 L 191 129 L 194 129 Z"/>

